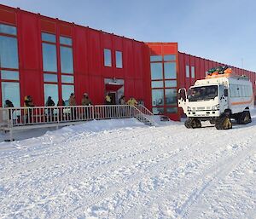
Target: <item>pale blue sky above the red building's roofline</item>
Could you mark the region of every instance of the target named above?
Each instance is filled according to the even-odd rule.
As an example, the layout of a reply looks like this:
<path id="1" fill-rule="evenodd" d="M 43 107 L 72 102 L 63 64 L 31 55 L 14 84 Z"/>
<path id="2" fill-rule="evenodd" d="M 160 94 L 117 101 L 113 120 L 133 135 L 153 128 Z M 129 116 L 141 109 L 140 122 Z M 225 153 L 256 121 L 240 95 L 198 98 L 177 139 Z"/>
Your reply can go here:
<path id="1" fill-rule="evenodd" d="M 253 0 L 0 0 L 50 17 L 256 72 Z"/>

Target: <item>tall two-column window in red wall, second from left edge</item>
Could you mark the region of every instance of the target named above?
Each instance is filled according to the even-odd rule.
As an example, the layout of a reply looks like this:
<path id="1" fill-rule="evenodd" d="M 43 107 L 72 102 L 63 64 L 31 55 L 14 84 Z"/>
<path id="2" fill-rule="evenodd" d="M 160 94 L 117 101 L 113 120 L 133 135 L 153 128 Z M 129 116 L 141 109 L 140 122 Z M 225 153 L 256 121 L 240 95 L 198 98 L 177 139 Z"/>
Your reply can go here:
<path id="1" fill-rule="evenodd" d="M 73 40 L 71 37 L 42 32 L 43 70 L 44 70 L 44 102 L 51 96 L 57 105 L 59 97 L 68 104 L 74 92 L 73 76 Z M 58 56 L 59 51 L 60 56 Z M 58 68 L 60 66 L 60 68 Z M 61 94 L 59 94 L 61 88 Z"/>

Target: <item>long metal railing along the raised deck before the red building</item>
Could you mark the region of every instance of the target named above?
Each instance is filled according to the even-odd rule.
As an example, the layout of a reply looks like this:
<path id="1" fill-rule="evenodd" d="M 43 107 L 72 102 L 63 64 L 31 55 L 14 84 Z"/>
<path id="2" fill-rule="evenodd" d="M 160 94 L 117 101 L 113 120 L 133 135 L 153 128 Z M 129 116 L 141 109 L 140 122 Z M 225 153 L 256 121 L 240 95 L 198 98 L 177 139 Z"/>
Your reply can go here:
<path id="1" fill-rule="evenodd" d="M 142 109 L 146 112 L 145 107 Z M 33 124 L 65 124 L 93 119 L 139 117 L 143 120 L 143 112 L 129 105 L 0 108 L 0 125 L 11 129 Z"/>

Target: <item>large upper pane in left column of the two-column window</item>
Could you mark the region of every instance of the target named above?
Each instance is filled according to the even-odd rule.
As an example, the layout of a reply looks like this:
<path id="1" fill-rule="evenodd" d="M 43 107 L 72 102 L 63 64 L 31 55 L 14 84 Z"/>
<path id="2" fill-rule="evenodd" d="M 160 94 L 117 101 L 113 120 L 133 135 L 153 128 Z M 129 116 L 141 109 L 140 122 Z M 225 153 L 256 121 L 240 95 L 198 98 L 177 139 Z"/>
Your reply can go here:
<path id="1" fill-rule="evenodd" d="M 44 72 L 57 72 L 56 46 L 43 43 Z"/>

